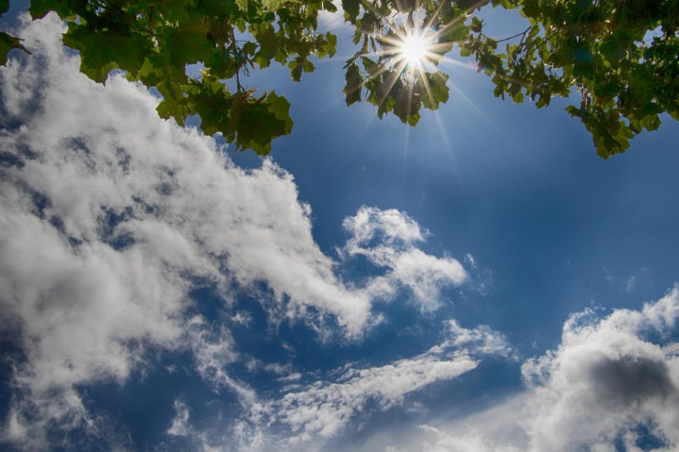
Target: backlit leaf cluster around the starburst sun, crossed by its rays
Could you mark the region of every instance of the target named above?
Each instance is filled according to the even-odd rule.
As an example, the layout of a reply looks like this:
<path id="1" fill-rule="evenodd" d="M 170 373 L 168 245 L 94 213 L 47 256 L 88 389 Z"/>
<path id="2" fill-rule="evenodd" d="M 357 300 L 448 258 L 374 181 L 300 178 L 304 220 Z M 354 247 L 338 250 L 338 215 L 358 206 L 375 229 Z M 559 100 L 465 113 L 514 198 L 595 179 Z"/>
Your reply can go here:
<path id="1" fill-rule="evenodd" d="M 391 112 L 414 126 L 422 107 L 437 109 L 448 100 L 448 76 L 430 68 L 468 37 L 466 8 L 452 1 L 402 0 L 343 0 L 342 6 L 355 27 L 353 42 L 360 46 L 344 66 L 347 105 L 364 99 L 376 105 L 379 117 Z M 427 64 L 403 59 L 398 43 L 425 30 L 431 35 Z"/>

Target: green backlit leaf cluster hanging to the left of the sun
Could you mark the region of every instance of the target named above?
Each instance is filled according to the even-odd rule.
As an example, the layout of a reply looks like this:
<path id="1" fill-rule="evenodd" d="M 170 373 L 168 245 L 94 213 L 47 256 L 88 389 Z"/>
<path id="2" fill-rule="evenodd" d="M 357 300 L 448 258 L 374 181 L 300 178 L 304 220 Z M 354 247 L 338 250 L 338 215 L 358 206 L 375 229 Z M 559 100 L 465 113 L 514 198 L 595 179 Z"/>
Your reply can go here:
<path id="1" fill-rule="evenodd" d="M 335 54 L 335 36 L 316 31 L 325 8 L 334 6 L 321 0 L 33 0 L 29 11 L 34 19 L 56 11 L 69 23 L 64 44 L 80 52 L 81 71 L 93 80 L 125 71 L 163 95 L 161 117 L 184 124 L 198 115 L 205 133 L 222 133 L 237 150 L 265 155 L 274 138 L 291 133 L 290 105 L 273 92 L 256 96 L 241 76 L 276 61 L 299 81 L 314 70 L 312 56 Z M 198 77 L 188 75 L 191 65 L 203 68 Z"/>

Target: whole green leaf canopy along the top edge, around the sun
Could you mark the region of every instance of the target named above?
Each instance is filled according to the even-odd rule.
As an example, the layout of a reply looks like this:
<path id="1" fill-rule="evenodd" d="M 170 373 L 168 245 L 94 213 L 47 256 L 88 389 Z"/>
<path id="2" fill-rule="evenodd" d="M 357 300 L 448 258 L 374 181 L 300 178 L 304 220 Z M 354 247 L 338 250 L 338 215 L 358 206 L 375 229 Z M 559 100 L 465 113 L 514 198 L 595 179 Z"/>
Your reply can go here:
<path id="1" fill-rule="evenodd" d="M 337 5 L 340 3 L 337 2 Z M 516 9 L 527 28 L 492 38 L 479 11 Z M 366 100 L 379 117 L 414 125 L 422 107 L 448 100 L 438 69 L 455 47 L 492 78 L 494 95 L 538 108 L 579 93 L 567 107 L 591 133 L 601 157 L 624 152 L 659 114 L 679 120 L 678 0 L 342 0 L 359 47 L 344 66 L 347 105 Z M 0 16 L 8 11 L 0 0 Z M 238 150 L 269 153 L 291 132 L 289 102 L 241 85 L 272 61 L 300 81 L 313 59 L 332 57 L 337 37 L 318 30 L 328 0 L 33 0 L 34 19 L 55 11 L 69 23 L 64 44 L 81 71 L 104 82 L 112 69 L 163 95 L 158 114 L 179 124 L 199 115 L 204 133 L 221 132 Z M 406 48 L 417 40 L 422 56 Z M 0 31 L 0 64 L 18 37 Z M 202 64 L 200 76 L 187 65 Z M 228 88 L 229 81 L 232 89 Z M 235 83 L 234 83 L 235 82 Z M 235 85 L 235 88 L 233 88 Z M 576 96 L 574 96 L 576 97 Z"/>

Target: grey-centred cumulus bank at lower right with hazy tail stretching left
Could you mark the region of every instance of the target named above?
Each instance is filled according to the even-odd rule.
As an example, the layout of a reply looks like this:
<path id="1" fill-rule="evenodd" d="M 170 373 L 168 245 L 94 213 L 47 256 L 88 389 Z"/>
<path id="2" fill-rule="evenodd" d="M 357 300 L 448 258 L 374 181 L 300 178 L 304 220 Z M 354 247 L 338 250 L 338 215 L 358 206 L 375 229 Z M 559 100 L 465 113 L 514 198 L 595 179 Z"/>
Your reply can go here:
<path id="1" fill-rule="evenodd" d="M 676 451 L 678 320 L 677 286 L 640 310 L 617 309 L 603 319 L 591 309 L 573 314 L 556 350 L 523 363 L 524 391 L 455 422 L 435 420 L 405 445 L 388 445 L 398 451 Z M 455 325 L 453 331 L 465 342 L 480 335 Z"/>

